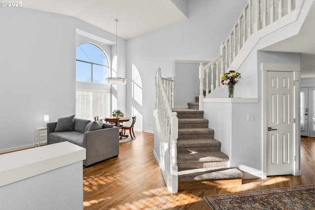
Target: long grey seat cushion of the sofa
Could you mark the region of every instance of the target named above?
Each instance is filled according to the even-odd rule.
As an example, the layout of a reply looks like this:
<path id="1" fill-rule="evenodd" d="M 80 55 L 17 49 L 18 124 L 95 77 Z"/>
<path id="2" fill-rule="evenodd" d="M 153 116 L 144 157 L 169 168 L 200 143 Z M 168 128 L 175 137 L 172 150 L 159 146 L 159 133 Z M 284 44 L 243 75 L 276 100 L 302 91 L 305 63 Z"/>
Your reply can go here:
<path id="1" fill-rule="evenodd" d="M 58 143 L 68 141 L 82 147 L 84 133 L 80 133 L 78 131 L 53 132 L 49 134 L 49 138 Z"/>

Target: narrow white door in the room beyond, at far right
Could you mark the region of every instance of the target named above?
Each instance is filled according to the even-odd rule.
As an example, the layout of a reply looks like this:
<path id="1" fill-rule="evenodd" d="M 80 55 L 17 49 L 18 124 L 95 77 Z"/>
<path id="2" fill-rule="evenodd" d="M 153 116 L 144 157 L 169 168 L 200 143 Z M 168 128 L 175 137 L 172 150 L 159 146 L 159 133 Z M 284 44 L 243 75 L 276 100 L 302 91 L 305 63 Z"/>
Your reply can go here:
<path id="1" fill-rule="evenodd" d="M 301 88 L 300 90 L 300 128 L 301 136 L 309 135 L 309 88 Z"/>

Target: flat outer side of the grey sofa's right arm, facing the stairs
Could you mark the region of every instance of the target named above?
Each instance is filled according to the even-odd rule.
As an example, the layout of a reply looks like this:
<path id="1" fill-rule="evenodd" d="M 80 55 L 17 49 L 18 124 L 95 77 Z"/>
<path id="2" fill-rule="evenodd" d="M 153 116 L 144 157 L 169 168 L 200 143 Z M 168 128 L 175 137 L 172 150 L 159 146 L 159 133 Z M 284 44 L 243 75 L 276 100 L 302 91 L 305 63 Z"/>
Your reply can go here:
<path id="1" fill-rule="evenodd" d="M 83 165 L 105 160 L 119 154 L 119 127 L 104 128 L 84 133 L 83 145 L 87 159 Z"/>

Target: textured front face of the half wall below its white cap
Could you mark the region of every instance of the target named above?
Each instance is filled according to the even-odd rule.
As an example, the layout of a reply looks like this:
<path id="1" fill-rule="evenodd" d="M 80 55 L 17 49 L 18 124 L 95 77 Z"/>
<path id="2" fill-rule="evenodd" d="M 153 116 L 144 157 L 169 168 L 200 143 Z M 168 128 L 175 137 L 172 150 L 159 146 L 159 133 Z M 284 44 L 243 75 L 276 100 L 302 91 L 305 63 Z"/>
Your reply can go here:
<path id="1" fill-rule="evenodd" d="M 0 187 L 3 210 L 83 210 L 82 161 Z"/>

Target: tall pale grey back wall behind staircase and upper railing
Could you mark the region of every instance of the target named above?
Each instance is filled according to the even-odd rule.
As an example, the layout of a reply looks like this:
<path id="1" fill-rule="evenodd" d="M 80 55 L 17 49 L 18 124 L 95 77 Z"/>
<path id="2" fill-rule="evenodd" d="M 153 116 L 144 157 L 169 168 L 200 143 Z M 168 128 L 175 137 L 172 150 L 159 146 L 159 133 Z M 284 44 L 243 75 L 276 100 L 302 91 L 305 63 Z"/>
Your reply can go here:
<path id="1" fill-rule="evenodd" d="M 134 63 L 143 81 L 143 130 L 154 131 L 155 73 L 172 76 L 172 60 L 212 60 L 228 36 L 247 0 L 190 0 L 189 19 L 127 40 L 127 78 Z M 175 78 L 176 80 L 176 78 Z M 127 84 L 127 113 L 136 102 Z M 190 101 L 191 99 L 189 99 Z M 189 102 L 187 101 L 187 102 Z"/>

